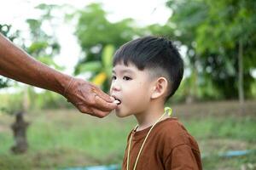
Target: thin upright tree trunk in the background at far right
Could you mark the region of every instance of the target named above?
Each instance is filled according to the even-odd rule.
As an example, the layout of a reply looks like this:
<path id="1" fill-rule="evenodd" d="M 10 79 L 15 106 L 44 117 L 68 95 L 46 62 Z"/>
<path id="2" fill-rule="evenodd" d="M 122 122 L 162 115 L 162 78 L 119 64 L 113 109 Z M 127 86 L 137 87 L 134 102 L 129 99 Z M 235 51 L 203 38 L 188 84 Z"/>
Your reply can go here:
<path id="1" fill-rule="evenodd" d="M 238 95 L 239 95 L 239 103 L 241 108 L 241 113 L 244 105 L 244 90 L 243 90 L 243 59 L 242 59 L 242 42 L 239 41 L 238 48 Z"/>

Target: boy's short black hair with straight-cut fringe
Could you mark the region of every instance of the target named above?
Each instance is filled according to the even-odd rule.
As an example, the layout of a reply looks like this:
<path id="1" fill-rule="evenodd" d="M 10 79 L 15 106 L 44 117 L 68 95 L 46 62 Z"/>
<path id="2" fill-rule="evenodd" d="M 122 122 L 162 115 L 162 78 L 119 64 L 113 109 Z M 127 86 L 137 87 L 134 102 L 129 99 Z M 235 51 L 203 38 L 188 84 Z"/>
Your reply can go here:
<path id="1" fill-rule="evenodd" d="M 113 56 L 113 66 L 123 62 L 134 64 L 140 71 L 153 69 L 170 82 L 169 99 L 175 94 L 183 78 L 183 59 L 165 37 L 141 37 L 121 46 Z"/>

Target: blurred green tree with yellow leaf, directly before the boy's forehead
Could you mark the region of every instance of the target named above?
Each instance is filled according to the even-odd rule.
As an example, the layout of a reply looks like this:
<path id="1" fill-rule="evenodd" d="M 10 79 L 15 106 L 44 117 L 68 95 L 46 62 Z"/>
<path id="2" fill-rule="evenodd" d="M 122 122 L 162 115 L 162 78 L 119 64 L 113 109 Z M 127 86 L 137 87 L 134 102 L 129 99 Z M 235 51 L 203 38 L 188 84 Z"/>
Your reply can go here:
<path id="1" fill-rule="evenodd" d="M 79 59 L 75 68 L 75 74 L 90 71 L 91 82 L 100 85 L 105 92 L 110 85 L 114 50 L 142 35 L 132 19 L 112 23 L 108 21 L 107 14 L 101 3 L 91 3 L 74 13 L 79 18 L 75 35 L 84 52 L 84 57 Z"/>

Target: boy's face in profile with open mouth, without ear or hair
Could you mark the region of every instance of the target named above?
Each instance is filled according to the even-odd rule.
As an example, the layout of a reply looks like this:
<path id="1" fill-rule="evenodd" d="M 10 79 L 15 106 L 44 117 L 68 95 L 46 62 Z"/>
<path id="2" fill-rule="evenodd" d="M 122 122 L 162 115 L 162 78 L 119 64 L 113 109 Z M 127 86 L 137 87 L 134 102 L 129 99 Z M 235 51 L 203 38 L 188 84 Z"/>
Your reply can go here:
<path id="1" fill-rule="evenodd" d="M 124 117 L 146 111 L 152 94 L 152 83 L 147 70 L 140 71 L 132 64 L 115 65 L 110 94 L 121 102 L 116 115 Z"/>

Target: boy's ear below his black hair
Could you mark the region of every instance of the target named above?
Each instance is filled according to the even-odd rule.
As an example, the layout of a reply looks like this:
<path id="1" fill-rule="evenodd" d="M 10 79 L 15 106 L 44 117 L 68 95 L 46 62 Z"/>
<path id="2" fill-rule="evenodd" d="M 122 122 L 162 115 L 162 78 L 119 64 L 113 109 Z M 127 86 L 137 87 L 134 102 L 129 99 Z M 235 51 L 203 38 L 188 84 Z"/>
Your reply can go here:
<path id="1" fill-rule="evenodd" d="M 151 94 L 151 99 L 156 99 L 162 96 L 163 94 L 166 94 L 168 87 L 168 81 L 165 77 L 159 77 L 153 87 L 153 93 Z"/>

